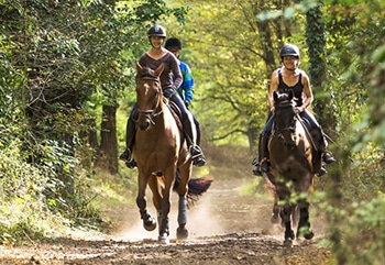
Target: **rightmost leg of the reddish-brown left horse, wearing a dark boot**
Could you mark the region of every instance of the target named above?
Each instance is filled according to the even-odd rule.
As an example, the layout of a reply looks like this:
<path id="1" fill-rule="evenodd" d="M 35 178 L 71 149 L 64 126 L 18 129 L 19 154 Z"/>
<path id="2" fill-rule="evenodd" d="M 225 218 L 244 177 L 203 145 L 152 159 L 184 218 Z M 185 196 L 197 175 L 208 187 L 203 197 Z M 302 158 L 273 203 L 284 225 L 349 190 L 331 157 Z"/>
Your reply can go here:
<path id="1" fill-rule="evenodd" d="M 177 174 L 180 175 L 180 184 L 178 186 L 178 224 L 179 227 L 176 230 L 176 235 L 178 240 L 185 240 L 188 238 L 188 230 L 186 229 L 187 224 L 187 185 L 190 176 L 191 167 L 182 167 Z"/>

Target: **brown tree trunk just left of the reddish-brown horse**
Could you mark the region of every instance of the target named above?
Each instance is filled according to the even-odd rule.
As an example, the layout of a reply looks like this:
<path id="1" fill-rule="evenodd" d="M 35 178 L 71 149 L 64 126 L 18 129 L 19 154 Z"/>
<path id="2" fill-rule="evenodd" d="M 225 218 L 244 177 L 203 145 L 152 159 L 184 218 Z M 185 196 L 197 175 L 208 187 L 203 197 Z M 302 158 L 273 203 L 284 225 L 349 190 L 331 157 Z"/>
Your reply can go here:
<path id="1" fill-rule="evenodd" d="M 100 146 L 96 162 L 97 167 L 108 169 L 110 174 L 118 174 L 117 109 L 118 104 L 102 107 Z"/>

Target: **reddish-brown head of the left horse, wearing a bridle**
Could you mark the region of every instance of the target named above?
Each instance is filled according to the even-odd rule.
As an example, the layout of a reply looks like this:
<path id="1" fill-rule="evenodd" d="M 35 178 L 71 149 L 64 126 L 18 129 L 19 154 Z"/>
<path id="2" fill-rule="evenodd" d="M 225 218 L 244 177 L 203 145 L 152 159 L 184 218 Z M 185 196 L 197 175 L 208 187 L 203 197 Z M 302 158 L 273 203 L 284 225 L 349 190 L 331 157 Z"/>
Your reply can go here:
<path id="1" fill-rule="evenodd" d="M 136 63 L 136 70 L 138 125 L 145 131 L 154 124 L 153 118 L 162 113 L 160 106 L 163 95 L 160 76 L 164 70 L 164 64 L 153 70 Z"/>

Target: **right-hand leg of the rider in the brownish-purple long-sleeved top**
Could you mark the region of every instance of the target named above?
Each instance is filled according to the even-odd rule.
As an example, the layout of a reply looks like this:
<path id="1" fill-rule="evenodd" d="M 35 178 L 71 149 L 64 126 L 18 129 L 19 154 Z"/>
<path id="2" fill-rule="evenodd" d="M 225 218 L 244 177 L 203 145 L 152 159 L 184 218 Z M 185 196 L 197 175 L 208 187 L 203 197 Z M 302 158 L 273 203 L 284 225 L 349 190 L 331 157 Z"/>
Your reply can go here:
<path id="1" fill-rule="evenodd" d="M 193 128 L 195 126 L 194 124 L 194 119 L 193 114 L 187 110 L 185 103 L 183 102 L 182 98 L 179 95 L 176 93 L 176 91 L 170 90 L 170 88 L 166 89 L 164 92 L 165 97 L 167 97 L 169 100 L 175 102 L 178 108 L 180 109 L 182 112 L 182 123 L 183 128 L 186 134 L 186 140 L 189 145 L 189 152 L 193 156 L 193 163 L 196 166 L 205 166 L 206 165 L 206 158 L 204 155 L 204 152 L 197 145 L 197 136 L 195 130 Z"/>

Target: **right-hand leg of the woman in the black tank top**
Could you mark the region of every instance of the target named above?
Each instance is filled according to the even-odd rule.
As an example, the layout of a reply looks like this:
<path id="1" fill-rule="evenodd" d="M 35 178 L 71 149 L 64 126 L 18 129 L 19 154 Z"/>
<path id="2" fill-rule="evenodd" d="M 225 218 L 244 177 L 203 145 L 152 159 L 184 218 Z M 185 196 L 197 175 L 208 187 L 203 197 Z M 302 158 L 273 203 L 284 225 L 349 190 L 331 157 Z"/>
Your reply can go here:
<path id="1" fill-rule="evenodd" d="M 312 134 L 315 134 L 316 143 L 318 144 L 319 152 L 322 153 L 322 159 L 326 164 L 331 164 L 336 162 L 336 158 L 331 155 L 330 152 L 327 151 L 328 141 L 324 137 L 323 130 L 321 125 L 317 122 L 314 114 L 311 114 L 308 110 L 305 110 L 300 113 L 301 117 L 306 118 L 310 122 L 310 126 L 312 129 Z"/>

